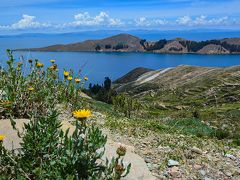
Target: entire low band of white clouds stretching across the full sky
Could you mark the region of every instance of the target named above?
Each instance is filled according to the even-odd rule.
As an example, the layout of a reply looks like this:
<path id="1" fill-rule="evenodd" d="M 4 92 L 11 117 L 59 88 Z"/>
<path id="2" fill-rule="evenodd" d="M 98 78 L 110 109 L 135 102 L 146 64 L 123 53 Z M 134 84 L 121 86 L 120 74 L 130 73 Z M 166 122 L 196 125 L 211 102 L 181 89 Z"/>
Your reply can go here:
<path id="1" fill-rule="evenodd" d="M 37 18 L 32 15 L 24 14 L 19 21 L 9 24 L 0 25 L 0 30 L 14 31 L 14 30 L 73 30 L 74 28 L 83 27 L 83 29 L 88 29 L 88 27 L 93 28 L 111 28 L 117 27 L 119 29 L 123 28 L 179 28 L 183 27 L 237 27 L 240 25 L 239 19 L 233 19 L 228 16 L 209 18 L 205 15 L 200 15 L 197 17 L 182 16 L 176 19 L 159 19 L 159 18 L 146 18 L 140 17 L 137 19 L 127 19 L 122 20 L 118 18 L 111 17 L 106 12 L 100 12 L 95 16 L 89 14 L 89 12 L 83 12 L 76 14 L 72 21 L 65 23 L 47 23 L 39 22 Z"/>

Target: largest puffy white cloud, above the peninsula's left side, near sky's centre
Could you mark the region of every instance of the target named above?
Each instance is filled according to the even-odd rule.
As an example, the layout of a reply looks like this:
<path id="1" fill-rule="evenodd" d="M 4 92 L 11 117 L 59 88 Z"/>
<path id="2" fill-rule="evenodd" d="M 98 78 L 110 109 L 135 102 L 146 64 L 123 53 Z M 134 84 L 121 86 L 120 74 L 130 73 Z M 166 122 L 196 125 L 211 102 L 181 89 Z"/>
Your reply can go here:
<path id="1" fill-rule="evenodd" d="M 70 26 L 119 26 L 123 25 L 120 19 L 111 18 L 108 13 L 100 12 L 96 16 L 90 16 L 88 12 L 79 13 L 74 16 L 74 21 L 65 25 Z"/>

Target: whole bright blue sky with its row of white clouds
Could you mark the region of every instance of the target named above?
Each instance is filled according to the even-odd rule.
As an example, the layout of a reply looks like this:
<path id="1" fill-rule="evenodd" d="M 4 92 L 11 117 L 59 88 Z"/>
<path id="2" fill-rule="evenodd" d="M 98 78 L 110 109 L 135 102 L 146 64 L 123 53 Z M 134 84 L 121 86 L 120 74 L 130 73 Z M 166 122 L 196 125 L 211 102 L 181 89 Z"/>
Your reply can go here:
<path id="1" fill-rule="evenodd" d="M 240 30 L 240 0 L 1 0 L 0 34 Z"/>

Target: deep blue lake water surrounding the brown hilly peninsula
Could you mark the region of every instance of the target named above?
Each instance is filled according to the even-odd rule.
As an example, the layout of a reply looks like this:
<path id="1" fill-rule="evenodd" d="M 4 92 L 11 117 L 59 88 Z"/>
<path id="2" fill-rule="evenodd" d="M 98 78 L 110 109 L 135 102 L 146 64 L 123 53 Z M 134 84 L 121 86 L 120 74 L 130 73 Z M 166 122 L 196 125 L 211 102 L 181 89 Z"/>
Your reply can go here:
<path id="1" fill-rule="evenodd" d="M 5 49 L 23 47 L 41 47 L 53 44 L 49 39 L 42 38 L 21 38 L 1 39 L 0 38 L 0 65 L 7 59 Z M 59 43 L 66 41 L 58 40 Z M 69 40 L 68 40 L 69 41 Z M 59 70 L 63 68 L 73 69 L 75 72 L 82 70 L 83 76 L 89 77 L 89 82 L 102 83 L 104 77 L 115 80 L 130 70 L 137 67 L 161 69 L 176 67 L 178 65 L 195 65 L 226 67 L 240 65 L 240 55 L 173 55 L 154 53 L 89 53 L 89 52 L 14 52 L 15 58 L 39 59 L 46 66 L 50 65 L 49 60 L 55 59 Z"/>

